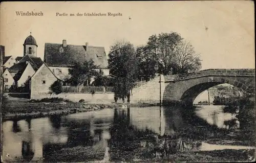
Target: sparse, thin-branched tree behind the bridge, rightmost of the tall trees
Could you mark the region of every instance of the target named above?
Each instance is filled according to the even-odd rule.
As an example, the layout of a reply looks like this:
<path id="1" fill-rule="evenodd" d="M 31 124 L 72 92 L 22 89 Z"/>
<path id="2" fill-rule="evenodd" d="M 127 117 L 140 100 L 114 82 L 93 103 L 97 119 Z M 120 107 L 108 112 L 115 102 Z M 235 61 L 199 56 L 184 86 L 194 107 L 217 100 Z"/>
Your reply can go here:
<path id="1" fill-rule="evenodd" d="M 201 67 L 200 55 L 188 41 L 180 41 L 174 57 L 173 74 L 198 71 Z"/>

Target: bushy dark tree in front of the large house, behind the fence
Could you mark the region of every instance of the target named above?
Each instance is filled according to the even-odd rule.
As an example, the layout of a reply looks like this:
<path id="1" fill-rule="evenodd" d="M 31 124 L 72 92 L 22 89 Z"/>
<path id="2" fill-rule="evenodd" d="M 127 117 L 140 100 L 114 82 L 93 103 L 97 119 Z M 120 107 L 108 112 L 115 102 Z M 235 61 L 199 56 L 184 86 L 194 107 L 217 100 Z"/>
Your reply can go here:
<path id="1" fill-rule="evenodd" d="M 96 66 L 92 59 L 84 61 L 83 63 L 75 62 L 74 65 L 69 68 L 71 78 L 68 82 L 72 85 L 84 85 L 86 83 L 88 85 L 91 78 L 99 74 L 97 71 L 98 68 L 99 66 Z"/>

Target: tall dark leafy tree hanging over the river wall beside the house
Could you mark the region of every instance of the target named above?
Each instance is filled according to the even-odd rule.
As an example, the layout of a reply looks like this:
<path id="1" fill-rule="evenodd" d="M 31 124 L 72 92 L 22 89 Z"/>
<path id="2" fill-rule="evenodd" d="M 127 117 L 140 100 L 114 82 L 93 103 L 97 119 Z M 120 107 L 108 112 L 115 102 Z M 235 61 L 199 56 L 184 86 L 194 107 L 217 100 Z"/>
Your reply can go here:
<path id="1" fill-rule="evenodd" d="M 117 77 L 115 83 L 115 101 L 124 98 L 130 99 L 130 90 L 137 79 L 138 60 L 134 46 L 127 41 L 117 41 L 110 48 L 110 74 Z"/>

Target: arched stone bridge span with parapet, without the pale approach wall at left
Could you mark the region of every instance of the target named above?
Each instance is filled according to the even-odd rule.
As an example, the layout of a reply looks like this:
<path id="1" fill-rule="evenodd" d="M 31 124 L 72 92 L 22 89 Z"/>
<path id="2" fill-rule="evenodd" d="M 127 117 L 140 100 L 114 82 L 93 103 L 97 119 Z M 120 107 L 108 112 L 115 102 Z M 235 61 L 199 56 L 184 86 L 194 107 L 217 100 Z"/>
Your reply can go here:
<path id="1" fill-rule="evenodd" d="M 198 73 L 183 74 L 165 77 L 163 104 L 185 103 L 192 105 L 196 97 L 204 90 L 219 85 L 230 84 L 238 87 L 242 92 L 255 88 L 254 71 L 240 75 L 237 73 L 212 73 L 201 71 Z"/>

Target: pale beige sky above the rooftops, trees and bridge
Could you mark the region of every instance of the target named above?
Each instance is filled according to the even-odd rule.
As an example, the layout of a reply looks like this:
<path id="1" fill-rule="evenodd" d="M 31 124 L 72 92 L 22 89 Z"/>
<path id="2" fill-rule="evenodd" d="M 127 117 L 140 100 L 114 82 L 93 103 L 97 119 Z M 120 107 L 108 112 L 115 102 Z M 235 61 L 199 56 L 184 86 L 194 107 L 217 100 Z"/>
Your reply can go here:
<path id="1" fill-rule="evenodd" d="M 16 11 L 43 16 L 17 16 Z M 122 16 L 56 16 L 58 13 L 121 13 Z M 255 68 L 252 1 L 162 2 L 4 2 L 0 11 L 0 44 L 6 56 L 23 56 L 32 32 L 37 56 L 46 42 L 110 46 L 126 40 L 135 46 L 161 32 L 177 32 L 201 55 L 202 68 Z"/>

